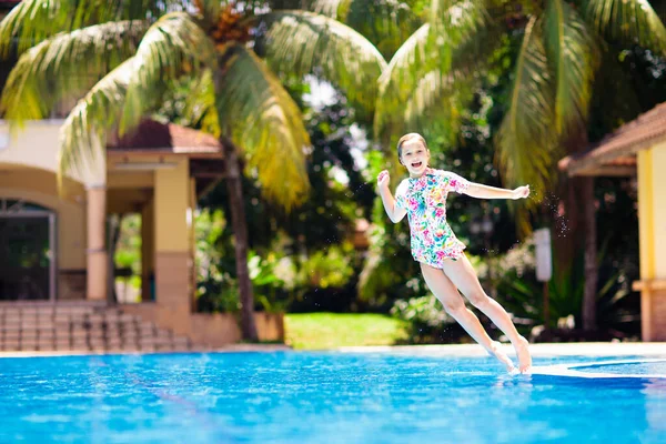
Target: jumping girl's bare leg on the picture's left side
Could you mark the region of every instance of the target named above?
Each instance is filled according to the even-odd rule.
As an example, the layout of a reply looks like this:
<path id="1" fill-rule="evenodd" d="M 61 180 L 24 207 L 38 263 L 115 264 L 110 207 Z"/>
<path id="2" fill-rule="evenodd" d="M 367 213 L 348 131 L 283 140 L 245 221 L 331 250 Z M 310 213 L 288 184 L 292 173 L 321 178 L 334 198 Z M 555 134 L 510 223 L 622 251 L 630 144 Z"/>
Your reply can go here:
<path id="1" fill-rule="evenodd" d="M 446 313 L 455 319 L 474 341 L 497 357 L 506 366 L 507 371 L 512 371 L 514 365 L 511 359 L 502 351 L 501 344 L 488 336 L 483 325 L 481 325 L 478 317 L 465 306 L 465 301 L 446 274 L 440 269 L 434 269 L 423 263 L 421 264 L 421 271 L 423 272 L 425 283 L 435 297 L 442 302 Z"/>

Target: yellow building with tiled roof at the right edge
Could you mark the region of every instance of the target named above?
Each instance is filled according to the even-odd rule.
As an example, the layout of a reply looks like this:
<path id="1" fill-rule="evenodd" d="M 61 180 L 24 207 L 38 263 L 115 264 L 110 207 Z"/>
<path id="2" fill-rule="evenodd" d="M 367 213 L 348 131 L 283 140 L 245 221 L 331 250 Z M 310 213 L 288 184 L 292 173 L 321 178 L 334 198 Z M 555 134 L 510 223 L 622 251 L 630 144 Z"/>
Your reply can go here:
<path id="1" fill-rule="evenodd" d="M 666 341 L 666 103 L 639 115 L 589 151 L 559 161 L 569 176 L 636 176 L 643 341 Z"/>

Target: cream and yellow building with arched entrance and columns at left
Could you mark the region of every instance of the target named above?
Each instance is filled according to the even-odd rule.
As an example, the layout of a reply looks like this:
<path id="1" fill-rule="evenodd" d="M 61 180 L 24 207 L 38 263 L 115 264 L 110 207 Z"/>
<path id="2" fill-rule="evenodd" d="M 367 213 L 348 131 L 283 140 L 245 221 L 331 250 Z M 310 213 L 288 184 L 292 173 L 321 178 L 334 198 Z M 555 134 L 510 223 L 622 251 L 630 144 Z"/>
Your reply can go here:
<path id="1" fill-rule="evenodd" d="M 62 120 L 0 122 L 0 300 L 2 304 L 92 303 L 120 307 L 194 343 L 240 340 L 231 314 L 194 309 L 193 210 L 221 180 L 222 147 L 209 134 L 143 120 L 57 189 Z M 111 214 L 140 213 L 142 302 L 109 291 Z M 282 316 L 256 315 L 260 339 L 282 340 Z"/>

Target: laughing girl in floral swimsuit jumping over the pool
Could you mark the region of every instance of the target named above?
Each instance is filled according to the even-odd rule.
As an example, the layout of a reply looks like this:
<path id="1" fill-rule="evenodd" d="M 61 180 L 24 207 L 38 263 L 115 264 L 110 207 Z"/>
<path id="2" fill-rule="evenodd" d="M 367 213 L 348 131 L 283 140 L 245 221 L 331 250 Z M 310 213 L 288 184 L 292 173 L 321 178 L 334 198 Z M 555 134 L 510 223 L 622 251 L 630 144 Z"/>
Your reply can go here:
<path id="1" fill-rule="evenodd" d="M 455 238 L 446 223 L 446 194 L 450 191 L 477 199 L 523 199 L 529 186 L 505 190 L 468 182 L 448 171 L 428 167 L 430 150 L 421 134 L 403 135 L 397 142 L 400 163 L 410 172 L 395 191 L 389 190 L 389 172 L 377 176 L 380 195 L 386 214 L 393 223 L 408 215 L 412 255 L 421 264 L 428 289 L 465 331 L 488 353 L 497 357 L 507 371 L 514 365 L 502 351 L 501 344 L 491 340 L 478 317 L 465 306 L 458 289 L 470 302 L 485 313 L 513 344 L 518 357 L 518 370 L 525 373 L 532 366 L 527 340 L 518 334 L 508 313 L 481 287 L 470 260 L 463 252 L 465 245 Z"/>

